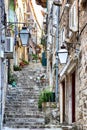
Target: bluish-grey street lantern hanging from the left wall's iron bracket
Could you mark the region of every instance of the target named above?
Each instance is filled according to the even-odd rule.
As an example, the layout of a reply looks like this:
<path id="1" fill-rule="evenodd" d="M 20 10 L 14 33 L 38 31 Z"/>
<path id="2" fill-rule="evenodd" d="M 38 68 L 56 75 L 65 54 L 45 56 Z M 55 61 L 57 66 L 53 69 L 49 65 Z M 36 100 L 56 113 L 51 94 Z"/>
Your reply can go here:
<path id="1" fill-rule="evenodd" d="M 27 27 L 22 27 L 22 30 L 20 31 L 20 38 L 22 45 L 27 46 L 29 40 L 29 31 L 27 30 Z"/>

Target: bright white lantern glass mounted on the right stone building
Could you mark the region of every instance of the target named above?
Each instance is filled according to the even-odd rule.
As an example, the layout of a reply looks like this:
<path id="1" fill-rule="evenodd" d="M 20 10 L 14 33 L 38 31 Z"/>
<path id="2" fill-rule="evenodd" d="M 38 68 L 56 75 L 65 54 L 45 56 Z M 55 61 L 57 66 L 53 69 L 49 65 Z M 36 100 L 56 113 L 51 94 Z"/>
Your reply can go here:
<path id="1" fill-rule="evenodd" d="M 59 57 L 60 63 L 65 64 L 68 58 L 68 51 L 66 49 L 60 49 L 58 51 L 58 57 Z"/>

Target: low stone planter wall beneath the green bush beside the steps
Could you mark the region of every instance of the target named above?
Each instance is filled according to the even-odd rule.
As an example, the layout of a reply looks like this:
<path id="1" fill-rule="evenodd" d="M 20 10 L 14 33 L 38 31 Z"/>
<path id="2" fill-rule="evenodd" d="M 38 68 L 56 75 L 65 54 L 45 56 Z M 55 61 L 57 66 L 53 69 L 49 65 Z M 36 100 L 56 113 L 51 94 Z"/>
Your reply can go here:
<path id="1" fill-rule="evenodd" d="M 45 102 L 42 106 L 42 111 L 45 112 L 45 124 L 46 126 L 59 125 L 59 104 L 56 105 L 55 102 Z"/>

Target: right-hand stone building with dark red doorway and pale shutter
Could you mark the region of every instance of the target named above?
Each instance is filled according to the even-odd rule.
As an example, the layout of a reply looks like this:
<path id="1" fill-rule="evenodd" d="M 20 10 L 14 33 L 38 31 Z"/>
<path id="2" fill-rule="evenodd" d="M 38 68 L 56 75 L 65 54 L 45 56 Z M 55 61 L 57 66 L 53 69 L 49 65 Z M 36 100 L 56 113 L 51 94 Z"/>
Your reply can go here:
<path id="1" fill-rule="evenodd" d="M 87 129 L 87 1 L 63 0 L 60 43 L 68 50 L 60 76 L 60 122 Z"/>

